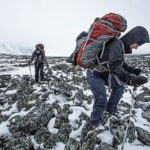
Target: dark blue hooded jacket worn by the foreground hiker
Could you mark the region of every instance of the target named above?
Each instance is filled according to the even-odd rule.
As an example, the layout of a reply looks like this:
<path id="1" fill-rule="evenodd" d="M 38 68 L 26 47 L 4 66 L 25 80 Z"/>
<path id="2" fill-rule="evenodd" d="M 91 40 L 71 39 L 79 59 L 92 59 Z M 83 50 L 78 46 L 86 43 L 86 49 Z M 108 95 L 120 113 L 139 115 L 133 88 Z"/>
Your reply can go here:
<path id="1" fill-rule="evenodd" d="M 100 62 L 107 62 L 107 68 L 111 74 L 116 75 L 121 81 L 127 82 L 130 73 L 133 73 L 133 67 L 125 63 L 125 53 L 132 53 L 131 44 L 138 43 L 139 46 L 149 43 L 149 35 L 145 28 L 138 26 L 129 31 L 121 39 L 113 39 L 109 41 L 105 47 L 105 51 Z M 108 79 L 109 72 L 101 72 L 93 69 L 94 74 Z"/>

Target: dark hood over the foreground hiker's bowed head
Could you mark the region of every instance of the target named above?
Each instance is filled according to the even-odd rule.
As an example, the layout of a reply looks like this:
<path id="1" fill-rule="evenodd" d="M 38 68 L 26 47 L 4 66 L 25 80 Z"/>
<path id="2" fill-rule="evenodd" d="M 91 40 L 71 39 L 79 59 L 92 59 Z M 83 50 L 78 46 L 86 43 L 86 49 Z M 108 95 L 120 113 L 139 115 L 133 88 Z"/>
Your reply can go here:
<path id="1" fill-rule="evenodd" d="M 124 43 L 124 49 L 126 54 L 132 53 L 132 49 L 130 48 L 131 44 L 137 43 L 139 46 L 141 46 L 144 43 L 150 42 L 148 31 L 142 26 L 137 26 L 133 28 L 127 34 L 121 37 L 121 40 Z"/>

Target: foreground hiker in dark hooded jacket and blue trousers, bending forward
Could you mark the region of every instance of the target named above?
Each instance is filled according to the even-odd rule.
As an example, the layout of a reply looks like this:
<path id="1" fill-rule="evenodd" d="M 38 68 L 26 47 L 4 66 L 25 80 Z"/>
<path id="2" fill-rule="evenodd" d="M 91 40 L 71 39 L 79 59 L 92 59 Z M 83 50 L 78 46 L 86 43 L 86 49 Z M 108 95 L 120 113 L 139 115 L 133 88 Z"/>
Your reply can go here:
<path id="1" fill-rule="evenodd" d="M 137 49 L 144 43 L 149 43 L 148 31 L 137 26 L 121 38 L 113 38 L 105 45 L 101 58 L 107 61 L 108 71 L 102 72 L 100 67 L 87 70 L 87 82 L 90 85 L 95 101 L 89 124 L 97 127 L 102 119 L 104 111 L 117 113 L 117 104 L 124 93 L 124 84 L 140 86 L 148 81 L 144 76 L 139 76 L 140 68 L 134 68 L 125 63 L 125 54 L 131 54 L 132 49 Z M 111 93 L 107 101 L 105 85 L 111 87 Z"/>

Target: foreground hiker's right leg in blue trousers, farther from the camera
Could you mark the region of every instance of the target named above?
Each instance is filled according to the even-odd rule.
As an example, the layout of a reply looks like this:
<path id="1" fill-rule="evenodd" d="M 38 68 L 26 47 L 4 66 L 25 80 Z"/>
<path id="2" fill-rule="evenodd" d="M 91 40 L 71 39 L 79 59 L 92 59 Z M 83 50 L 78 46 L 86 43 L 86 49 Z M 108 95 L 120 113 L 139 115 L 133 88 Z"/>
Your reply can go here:
<path id="1" fill-rule="evenodd" d="M 117 104 L 119 103 L 119 100 L 121 99 L 125 88 L 124 84 L 121 81 L 119 85 L 114 78 L 112 78 L 111 80 L 111 87 L 112 92 L 107 103 L 106 111 L 115 113 L 117 112 Z"/>

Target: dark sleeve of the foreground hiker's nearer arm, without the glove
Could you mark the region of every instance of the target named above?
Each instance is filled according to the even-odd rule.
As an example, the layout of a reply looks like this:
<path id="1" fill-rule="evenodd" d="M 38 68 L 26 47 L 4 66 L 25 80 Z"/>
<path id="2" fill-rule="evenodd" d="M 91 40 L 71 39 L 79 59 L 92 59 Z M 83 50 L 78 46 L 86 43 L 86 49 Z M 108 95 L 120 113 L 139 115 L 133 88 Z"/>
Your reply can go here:
<path id="1" fill-rule="evenodd" d="M 122 63 L 124 61 L 123 55 L 124 54 L 121 41 L 115 40 L 111 44 L 109 49 L 108 64 L 110 73 L 118 76 L 121 81 L 127 82 L 130 74 L 122 66 Z"/>

